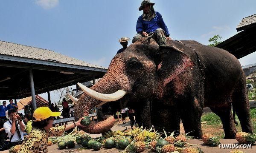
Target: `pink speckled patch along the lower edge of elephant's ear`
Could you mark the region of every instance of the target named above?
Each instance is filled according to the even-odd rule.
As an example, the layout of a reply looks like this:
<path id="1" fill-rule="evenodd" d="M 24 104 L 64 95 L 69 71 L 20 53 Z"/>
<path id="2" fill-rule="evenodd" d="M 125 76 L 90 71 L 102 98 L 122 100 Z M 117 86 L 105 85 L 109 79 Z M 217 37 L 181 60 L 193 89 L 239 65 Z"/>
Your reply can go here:
<path id="1" fill-rule="evenodd" d="M 184 72 L 188 71 L 188 68 L 193 66 L 193 62 L 189 57 L 183 55 L 180 64 L 177 65 L 174 70 L 169 74 L 169 76 L 163 79 L 163 85 L 166 86 L 169 82 L 171 82 L 177 75 L 183 74 Z"/>

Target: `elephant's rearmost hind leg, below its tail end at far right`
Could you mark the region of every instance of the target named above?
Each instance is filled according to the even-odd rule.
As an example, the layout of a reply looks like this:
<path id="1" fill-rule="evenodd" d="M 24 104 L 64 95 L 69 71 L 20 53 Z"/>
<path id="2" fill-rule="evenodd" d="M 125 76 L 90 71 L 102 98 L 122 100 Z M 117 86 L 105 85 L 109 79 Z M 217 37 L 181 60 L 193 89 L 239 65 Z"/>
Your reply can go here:
<path id="1" fill-rule="evenodd" d="M 241 83 L 242 84 L 242 83 Z M 247 96 L 246 86 L 239 85 L 239 88 L 232 95 L 233 107 L 241 123 L 242 131 L 252 133 L 253 128 L 250 120 L 250 105 Z"/>

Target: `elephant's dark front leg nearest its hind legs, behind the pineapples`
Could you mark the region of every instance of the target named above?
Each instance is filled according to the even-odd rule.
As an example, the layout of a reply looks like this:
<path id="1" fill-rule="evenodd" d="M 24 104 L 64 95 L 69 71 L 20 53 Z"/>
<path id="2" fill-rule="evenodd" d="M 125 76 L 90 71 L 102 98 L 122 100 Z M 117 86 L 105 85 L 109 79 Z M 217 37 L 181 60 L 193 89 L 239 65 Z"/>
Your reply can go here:
<path id="1" fill-rule="evenodd" d="M 189 135 L 195 136 L 197 139 L 202 137 L 201 116 L 203 111 L 200 103 L 198 99 L 194 99 L 192 103 L 187 102 L 180 111 L 185 132 L 191 132 Z"/>

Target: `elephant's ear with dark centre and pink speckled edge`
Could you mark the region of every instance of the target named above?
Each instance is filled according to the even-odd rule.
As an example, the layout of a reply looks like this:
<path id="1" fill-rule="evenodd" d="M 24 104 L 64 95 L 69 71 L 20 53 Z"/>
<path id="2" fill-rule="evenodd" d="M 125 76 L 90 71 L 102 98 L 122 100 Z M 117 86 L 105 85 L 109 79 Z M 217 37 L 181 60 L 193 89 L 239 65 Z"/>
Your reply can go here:
<path id="1" fill-rule="evenodd" d="M 159 52 L 160 63 L 157 71 L 166 86 L 177 75 L 188 72 L 192 69 L 194 62 L 181 49 L 174 46 L 166 46 Z"/>

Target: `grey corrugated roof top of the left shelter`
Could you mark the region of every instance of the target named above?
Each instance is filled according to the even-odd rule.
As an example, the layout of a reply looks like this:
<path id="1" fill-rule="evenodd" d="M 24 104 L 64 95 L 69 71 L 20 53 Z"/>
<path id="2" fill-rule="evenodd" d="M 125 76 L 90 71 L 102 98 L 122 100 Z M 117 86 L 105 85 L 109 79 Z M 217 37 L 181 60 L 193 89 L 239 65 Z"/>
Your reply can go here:
<path id="1" fill-rule="evenodd" d="M 50 51 L 42 48 L 35 48 L 26 45 L 15 44 L 12 42 L 5 42 L 0 40 L 0 54 L 15 56 L 15 57 L 23 57 L 29 59 L 39 59 L 49 62 L 58 62 L 70 65 L 79 65 L 79 66 L 87 66 L 92 68 L 103 68 L 105 67 L 99 65 L 93 65 L 79 59 L 75 59 L 72 57 L 68 57 L 66 55 L 62 55 L 56 53 L 54 51 Z"/>

